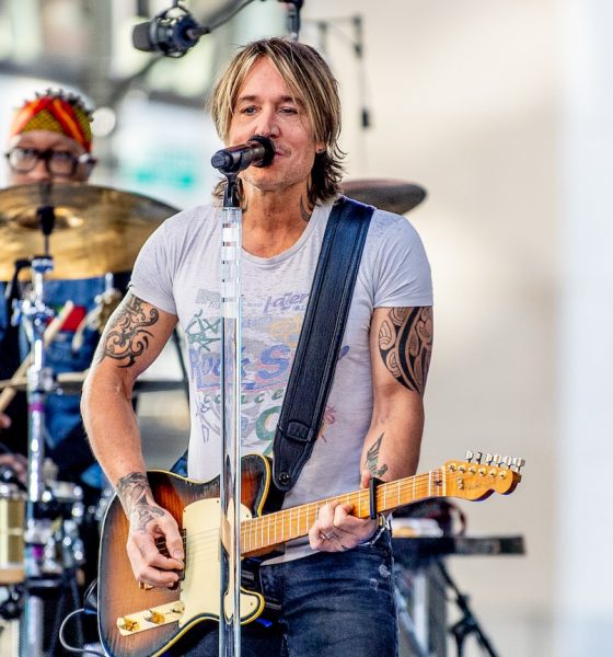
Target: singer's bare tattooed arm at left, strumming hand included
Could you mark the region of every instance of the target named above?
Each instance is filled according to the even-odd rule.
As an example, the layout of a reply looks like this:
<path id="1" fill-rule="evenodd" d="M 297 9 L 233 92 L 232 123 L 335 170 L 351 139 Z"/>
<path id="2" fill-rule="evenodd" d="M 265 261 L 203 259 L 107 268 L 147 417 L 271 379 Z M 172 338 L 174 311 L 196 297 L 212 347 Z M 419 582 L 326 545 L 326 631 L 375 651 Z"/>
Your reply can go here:
<path id="1" fill-rule="evenodd" d="M 134 574 L 155 586 L 176 583 L 183 541 L 176 522 L 155 504 L 149 488 L 131 396 L 137 377 L 158 357 L 175 324 L 175 315 L 128 293 L 104 331 L 81 399 L 94 454 L 130 521 L 127 551 Z M 174 558 L 155 548 L 161 537 Z"/>

